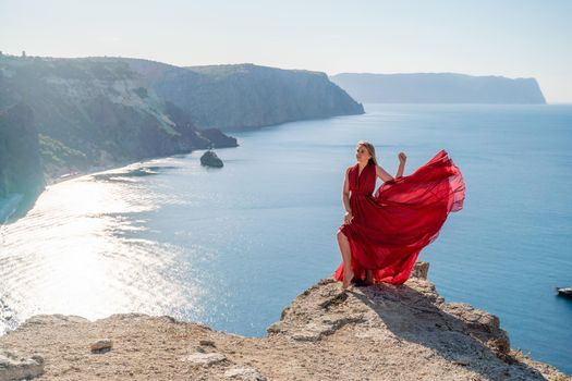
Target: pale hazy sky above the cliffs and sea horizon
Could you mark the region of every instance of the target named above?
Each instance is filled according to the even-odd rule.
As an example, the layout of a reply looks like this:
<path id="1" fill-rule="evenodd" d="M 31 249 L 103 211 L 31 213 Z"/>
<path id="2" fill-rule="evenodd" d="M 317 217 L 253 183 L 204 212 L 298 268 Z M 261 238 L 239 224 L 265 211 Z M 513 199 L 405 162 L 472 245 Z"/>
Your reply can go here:
<path id="1" fill-rule="evenodd" d="M 571 0 L 0 0 L 0 50 L 535 77 L 572 102 Z"/>

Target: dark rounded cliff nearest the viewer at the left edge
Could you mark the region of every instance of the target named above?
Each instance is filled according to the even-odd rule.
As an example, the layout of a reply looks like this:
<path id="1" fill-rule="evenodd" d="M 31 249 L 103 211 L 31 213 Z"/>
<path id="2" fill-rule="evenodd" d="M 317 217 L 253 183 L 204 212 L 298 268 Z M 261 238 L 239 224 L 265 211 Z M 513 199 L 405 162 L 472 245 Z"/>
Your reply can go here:
<path id="1" fill-rule="evenodd" d="M 24 202 L 29 202 L 42 189 L 34 113 L 28 106 L 20 103 L 0 113 L 0 198 L 15 193 L 24 196 Z"/>

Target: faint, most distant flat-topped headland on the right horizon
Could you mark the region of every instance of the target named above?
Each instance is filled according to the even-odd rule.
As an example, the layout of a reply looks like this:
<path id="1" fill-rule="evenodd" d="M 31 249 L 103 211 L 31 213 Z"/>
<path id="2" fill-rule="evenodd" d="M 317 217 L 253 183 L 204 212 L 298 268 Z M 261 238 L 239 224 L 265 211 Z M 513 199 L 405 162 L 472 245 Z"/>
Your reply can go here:
<path id="1" fill-rule="evenodd" d="M 453 73 L 343 73 L 331 81 L 367 103 L 546 103 L 534 78 Z"/>

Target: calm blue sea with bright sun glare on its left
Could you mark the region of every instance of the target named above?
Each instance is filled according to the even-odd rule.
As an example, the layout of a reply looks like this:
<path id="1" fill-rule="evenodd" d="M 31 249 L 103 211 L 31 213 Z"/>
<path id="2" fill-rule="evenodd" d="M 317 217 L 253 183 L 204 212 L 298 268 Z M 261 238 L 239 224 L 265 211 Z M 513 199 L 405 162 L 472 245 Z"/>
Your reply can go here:
<path id="1" fill-rule="evenodd" d="M 447 302 L 500 317 L 511 345 L 572 373 L 572 106 L 366 105 L 367 113 L 234 134 L 222 169 L 202 152 L 139 163 L 153 175 L 53 185 L 0 228 L 0 298 L 14 317 L 141 311 L 264 335 L 340 262 L 340 193 L 355 143 L 405 174 L 445 148 L 464 209 L 421 254 Z M 380 183 L 378 183 L 379 185 Z M 1 330 L 0 330 L 1 332 Z"/>

